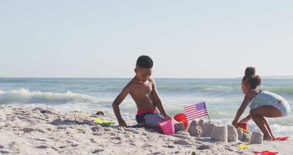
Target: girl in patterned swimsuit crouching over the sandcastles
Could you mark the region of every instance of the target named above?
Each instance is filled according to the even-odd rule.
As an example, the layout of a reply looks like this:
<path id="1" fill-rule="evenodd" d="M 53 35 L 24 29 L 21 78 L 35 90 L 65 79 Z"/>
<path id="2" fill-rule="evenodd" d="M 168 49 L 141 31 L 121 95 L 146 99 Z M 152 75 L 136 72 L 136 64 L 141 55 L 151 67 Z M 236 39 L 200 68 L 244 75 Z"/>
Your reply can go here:
<path id="1" fill-rule="evenodd" d="M 242 78 L 241 89 L 245 94 L 232 125 L 237 122 L 247 105 L 251 108 L 249 115 L 240 122 L 248 122 L 252 119 L 264 134 L 264 140 L 275 141 L 269 122 L 265 117 L 284 117 L 290 113 L 290 105 L 285 98 L 275 93 L 257 89 L 261 78 L 255 75 L 253 67 L 247 67 Z"/>

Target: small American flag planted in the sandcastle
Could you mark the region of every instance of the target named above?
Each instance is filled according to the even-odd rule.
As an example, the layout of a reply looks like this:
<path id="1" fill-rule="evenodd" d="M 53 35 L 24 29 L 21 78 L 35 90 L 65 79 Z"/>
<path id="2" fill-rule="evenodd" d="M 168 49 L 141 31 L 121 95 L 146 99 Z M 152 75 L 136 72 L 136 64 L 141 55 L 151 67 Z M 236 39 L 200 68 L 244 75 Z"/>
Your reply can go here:
<path id="1" fill-rule="evenodd" d="M 194 104 L 184 108 L 187 121 L 208 115 L 205 102 Z"/>

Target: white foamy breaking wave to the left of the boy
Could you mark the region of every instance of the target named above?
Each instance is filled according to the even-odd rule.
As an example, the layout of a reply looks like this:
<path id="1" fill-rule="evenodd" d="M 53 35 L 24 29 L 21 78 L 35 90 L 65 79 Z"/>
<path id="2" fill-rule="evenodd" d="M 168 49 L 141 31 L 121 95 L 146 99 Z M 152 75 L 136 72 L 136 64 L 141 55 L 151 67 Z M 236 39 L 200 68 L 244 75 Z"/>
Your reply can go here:
<path id="1" fill-rule="evenodd" d="M 103 111 L 105 114 L 114 115 L 112 109 L 113 98 L 98 99 L 93 96 L 73 93 L 52 93 L 29 91 L 21 88 L 19 90 L 1 91 L 0 104 L 25 105 L 32 107 L 50 107 L 58 111 L 88 111 L 96 112 Z M 120 107 L 126 118 L 133 119 L 135 117 L 136 106 L 130 99 L 123 101 L 123 106 Z M 130 111 L 130 112 L 129 112 Z"/>

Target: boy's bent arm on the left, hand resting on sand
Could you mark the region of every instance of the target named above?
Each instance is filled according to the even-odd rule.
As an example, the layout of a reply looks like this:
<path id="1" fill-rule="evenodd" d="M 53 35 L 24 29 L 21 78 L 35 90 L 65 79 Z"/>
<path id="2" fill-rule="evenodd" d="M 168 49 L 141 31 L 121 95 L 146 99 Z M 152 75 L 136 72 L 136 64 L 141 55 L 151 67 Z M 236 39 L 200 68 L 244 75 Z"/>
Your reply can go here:
<path id="1" fill-rule="evenodd" d="M 116 97 L 116 99 L 114 100 L 112 107 L 113 107 L 113 111 L 115 113 L 115 116 L 118 120 L 119 126 L 122 127 L 127 127 L 126 122 L 122 119 L 121 113 L 120 113 L 120 109 L 119 109 L 119 105 L 120 103 L 125 99 L 125 97 L 128 94 L 128 87 L 125 86 L 123 88 L 123 90 L 120 92 L 120 94 Z"/>

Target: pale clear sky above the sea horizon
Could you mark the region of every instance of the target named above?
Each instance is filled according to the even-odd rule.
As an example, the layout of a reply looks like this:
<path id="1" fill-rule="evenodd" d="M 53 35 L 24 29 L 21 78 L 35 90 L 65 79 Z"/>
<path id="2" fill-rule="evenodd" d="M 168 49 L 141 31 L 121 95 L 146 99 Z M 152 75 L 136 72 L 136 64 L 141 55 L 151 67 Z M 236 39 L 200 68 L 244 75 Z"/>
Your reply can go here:
<path id="1" fill-rule="evenodd" d="M 293 0 L 0 0 L 0 77 L 293 75 Z"/>

